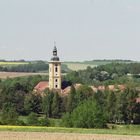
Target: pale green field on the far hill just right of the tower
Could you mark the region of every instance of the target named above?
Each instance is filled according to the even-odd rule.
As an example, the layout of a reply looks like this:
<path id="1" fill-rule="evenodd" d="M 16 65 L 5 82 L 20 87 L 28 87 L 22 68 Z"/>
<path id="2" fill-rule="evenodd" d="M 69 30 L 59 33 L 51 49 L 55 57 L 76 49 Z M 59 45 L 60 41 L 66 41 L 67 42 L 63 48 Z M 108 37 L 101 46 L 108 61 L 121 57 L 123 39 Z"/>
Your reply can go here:
<path id="1" fill-rule="evenodd" d="M 73 63 L 70 63 L 70 62 L 66 62 L 64 63 L 67 65 L 67 67 L 70 69 L 70 70 L 74 70 L 74 71 L 78 71 L 78 70 L 84 70 L 86 69 L 88 66 L 90 67 L 96 67 L 97 65 L 93 65 L 93 64 L 86 64 L 86 63 L 76 63 L 76 62 L 73 62 Z"/>

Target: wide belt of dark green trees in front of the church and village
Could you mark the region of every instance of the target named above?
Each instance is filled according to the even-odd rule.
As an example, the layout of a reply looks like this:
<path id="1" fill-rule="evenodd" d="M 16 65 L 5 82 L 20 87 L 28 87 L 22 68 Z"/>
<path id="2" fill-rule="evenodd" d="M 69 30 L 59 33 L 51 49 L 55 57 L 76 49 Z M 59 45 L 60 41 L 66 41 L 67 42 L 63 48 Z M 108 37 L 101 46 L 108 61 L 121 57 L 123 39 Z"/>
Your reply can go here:
<path id="1" fill-rule="evenodd" d="M 49 125 L 48 118 L 61 119 L 61 126 L 103 128 L 107 123 L 139 124 L 139 92 L 135 87 L 124 91 L 98 91 L 86 85 L 72 85 L 68 96 L 45 90 L 44 95 L 33 92 L 39 81 L 48 77 L 30 76 L 1 81 L 0 123 L 16 125 Z M 19 116 L 28 116 L 25 123 Z M 39 116 L 43 116 L 39 118 Z"/>

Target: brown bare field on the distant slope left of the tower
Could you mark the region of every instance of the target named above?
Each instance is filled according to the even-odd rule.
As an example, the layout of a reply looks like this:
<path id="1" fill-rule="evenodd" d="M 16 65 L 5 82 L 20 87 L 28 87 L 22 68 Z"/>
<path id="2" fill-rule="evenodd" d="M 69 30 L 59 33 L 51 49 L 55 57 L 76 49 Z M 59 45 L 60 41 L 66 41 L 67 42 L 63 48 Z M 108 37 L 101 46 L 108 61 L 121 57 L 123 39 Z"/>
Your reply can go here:
<path id="1" fill-rule="evenodd" d="M 15 77 L 24 77 L 31 75 L 48 75 L 47 73 L 26 73 L 26 72 L 0 72 L 0 78 L 15 78 Z"/>

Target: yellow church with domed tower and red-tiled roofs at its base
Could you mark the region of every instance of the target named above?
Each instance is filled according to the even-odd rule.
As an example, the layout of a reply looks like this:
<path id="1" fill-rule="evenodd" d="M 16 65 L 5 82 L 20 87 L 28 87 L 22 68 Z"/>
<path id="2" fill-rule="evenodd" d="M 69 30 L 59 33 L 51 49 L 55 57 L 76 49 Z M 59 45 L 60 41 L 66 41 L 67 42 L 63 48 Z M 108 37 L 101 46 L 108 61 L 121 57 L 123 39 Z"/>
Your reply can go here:
<path id="1" fill-rule="evenodd" d="M 74 84 L 74 87 L 78 89 L 81 84 Z M 58 56 L 56 45 L 52 52 L 52 58 L 49 61 L 49 81 L 39 82 L 35 88 L 35 93 L 42 94 L 46 89 L 55 90 L 61 94 L 61 96 L 67 96 L 70 93 L 71 86 L 62 88 L 62 73 L 61 73 L 61 61 Z"/>

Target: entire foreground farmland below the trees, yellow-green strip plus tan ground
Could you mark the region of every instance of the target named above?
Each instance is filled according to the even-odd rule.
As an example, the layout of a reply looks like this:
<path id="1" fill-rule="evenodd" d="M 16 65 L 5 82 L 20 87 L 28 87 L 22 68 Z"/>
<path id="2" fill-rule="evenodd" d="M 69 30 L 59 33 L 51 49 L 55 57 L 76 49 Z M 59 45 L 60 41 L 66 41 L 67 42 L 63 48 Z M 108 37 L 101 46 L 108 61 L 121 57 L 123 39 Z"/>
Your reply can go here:
<path id="1" fill-rule="evenodd" d="M 117 129 L 0 126 L 0 140 L 140 140 L 140 126 Z"/>

